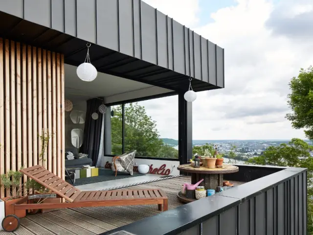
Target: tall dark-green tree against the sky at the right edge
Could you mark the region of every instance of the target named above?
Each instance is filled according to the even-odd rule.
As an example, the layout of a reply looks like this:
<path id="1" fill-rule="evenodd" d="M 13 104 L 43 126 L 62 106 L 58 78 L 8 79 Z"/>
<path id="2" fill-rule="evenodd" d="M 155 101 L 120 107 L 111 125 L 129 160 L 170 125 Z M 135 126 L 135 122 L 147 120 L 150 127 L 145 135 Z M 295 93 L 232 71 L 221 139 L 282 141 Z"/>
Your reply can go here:
<path id="1" fill-rule="evenodd" d="M 301 69 L 298 77 L 293 77 L 289 83 L 291 94 L 289 106 L 291 114 L 286 118 L 295 129 L 305 128 L 307 138 L 313 140 L 313 67 Z"/>

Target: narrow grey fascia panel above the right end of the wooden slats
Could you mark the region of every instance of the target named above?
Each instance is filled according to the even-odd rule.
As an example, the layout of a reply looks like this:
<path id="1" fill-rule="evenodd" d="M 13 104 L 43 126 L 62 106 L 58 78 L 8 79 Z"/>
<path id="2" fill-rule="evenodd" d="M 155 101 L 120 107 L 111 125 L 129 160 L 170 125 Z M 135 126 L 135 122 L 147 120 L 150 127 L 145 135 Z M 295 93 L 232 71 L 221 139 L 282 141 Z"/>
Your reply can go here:
<path id="1" fill-rule="evenodd" d="M 64 32 L 64 0 L 51 1 L 51 26 L 53 29 Z"/>

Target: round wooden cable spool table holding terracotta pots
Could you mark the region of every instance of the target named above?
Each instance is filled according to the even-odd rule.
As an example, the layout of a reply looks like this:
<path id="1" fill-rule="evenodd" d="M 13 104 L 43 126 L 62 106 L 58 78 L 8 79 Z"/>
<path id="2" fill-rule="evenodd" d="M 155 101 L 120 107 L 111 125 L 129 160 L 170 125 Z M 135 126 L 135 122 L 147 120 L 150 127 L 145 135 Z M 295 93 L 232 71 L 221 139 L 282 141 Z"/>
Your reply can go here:
<path id="1" fill-rule="evenodd" d="M 204 186 L 206 189 L 215 189 L 217 187 L 223 186 L 223 175 L 234 173 L 239 170 L 238 166 L 231 165 L 231 164 L 223 164 L 222 168 L 207 168 L 204 166 L 200 166 L 200 168 L 195 168 L 191 164 L 183 164 L 177 167 L 179 171 L 191 173 L 191 184 L 197 184 L 201 179 L 203 181 L 199 186 Z M 191 202 L 196 199 L 186 198 L 182 193 L 179 191 L 177 194 L 179 201 L 181 202 Z"/>

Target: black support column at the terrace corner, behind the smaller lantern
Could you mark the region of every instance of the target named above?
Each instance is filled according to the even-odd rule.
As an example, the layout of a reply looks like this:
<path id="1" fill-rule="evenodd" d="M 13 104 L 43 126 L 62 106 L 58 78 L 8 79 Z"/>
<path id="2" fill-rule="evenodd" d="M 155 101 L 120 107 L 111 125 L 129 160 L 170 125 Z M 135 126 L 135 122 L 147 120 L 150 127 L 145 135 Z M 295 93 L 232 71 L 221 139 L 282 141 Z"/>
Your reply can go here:
<path id="1" fill-rule="evenodd" d="M 186 164 L 192 158 L 192 102 L 179 94 L 179 162 Z"/>

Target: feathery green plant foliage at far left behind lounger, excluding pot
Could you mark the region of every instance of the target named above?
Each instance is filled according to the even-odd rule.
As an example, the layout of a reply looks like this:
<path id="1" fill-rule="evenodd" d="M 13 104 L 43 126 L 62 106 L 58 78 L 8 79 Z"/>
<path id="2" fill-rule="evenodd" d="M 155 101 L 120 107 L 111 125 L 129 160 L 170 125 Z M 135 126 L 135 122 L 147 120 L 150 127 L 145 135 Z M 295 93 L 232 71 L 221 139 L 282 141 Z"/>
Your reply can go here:
<path id="1" fill-rule="evenodd" d="M 21 167 L 22 169 L 23 167 Z M 7 174 L 1 174 L 1 186 L 9 191 L 9 199 L 16 199 L 21 196 L 22 184 L 21 178 L 23 174 L 20 171 L 9 170 Z M 12 190 L 16 190 L 15 196 L 12 195 Z"/>

